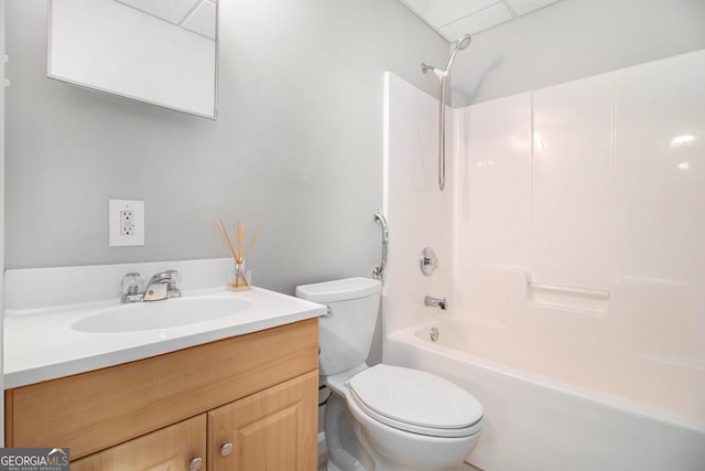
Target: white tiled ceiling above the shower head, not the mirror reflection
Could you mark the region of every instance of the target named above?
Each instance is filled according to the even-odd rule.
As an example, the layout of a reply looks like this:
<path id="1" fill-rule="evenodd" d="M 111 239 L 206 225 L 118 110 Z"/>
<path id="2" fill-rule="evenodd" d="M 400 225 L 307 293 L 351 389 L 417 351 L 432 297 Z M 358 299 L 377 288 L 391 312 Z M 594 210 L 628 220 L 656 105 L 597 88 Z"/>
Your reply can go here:
<path id="1" fill-rule="evenodd" d="M 511 21 L 560 0 L 400 0 L 448 42 Z"/>

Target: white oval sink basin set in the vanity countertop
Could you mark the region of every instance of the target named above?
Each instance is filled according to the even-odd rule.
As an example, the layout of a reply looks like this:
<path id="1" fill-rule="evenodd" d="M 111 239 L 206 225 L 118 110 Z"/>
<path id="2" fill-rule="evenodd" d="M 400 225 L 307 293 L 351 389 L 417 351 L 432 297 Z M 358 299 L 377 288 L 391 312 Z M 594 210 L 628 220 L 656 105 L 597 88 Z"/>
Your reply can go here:
<path id="1" fill-rule="evenodd" d="M 70 324 L 80 332 L 135 332 L 169 329 L 237 314 L 252 303 L 242 298 L 207 296 L 120 304 L 95 311 Z"/>

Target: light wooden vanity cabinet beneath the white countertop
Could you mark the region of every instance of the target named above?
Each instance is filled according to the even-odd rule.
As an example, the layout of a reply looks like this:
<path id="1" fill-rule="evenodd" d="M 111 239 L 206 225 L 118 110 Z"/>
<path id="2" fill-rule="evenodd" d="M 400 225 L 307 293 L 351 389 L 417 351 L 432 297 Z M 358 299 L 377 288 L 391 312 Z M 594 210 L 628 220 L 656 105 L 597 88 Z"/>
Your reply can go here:
<path id="1" fill-rule="evenodd" d="M 318 321 L 6 390 L 7 447 L 78 470 L 316 469 Z M 192 464 L 193 463 L 193 464 Z"/>

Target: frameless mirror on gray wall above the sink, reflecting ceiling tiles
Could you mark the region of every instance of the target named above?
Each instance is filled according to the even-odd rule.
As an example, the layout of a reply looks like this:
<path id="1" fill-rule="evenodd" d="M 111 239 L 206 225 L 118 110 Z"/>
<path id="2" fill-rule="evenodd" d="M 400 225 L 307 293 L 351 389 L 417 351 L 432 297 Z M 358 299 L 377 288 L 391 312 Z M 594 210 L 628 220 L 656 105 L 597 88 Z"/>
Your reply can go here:
<path id="1" fill-rule="evenodd" d="M 212 119 L 217 0 L 50 0 L 47 76 Z"/>

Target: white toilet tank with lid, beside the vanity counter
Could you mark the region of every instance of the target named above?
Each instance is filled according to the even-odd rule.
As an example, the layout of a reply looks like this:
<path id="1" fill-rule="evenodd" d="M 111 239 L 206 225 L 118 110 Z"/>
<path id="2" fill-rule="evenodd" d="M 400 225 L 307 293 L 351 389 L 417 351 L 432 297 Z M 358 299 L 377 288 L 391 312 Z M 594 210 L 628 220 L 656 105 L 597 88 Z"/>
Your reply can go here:
<path id="1" fill-rule="evenodd" d="M 327 306 L 319 318 L 318 356 L 323 376 L 350 370 L 367 360 L 377 325 L 382 283 L 369 278 L 346 278 L 296 287 L 296 296 Z"/>

